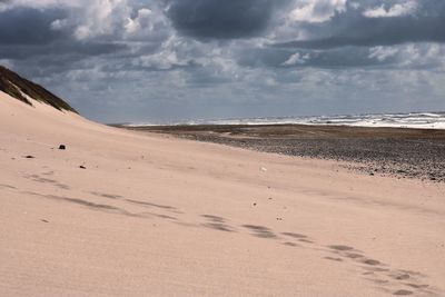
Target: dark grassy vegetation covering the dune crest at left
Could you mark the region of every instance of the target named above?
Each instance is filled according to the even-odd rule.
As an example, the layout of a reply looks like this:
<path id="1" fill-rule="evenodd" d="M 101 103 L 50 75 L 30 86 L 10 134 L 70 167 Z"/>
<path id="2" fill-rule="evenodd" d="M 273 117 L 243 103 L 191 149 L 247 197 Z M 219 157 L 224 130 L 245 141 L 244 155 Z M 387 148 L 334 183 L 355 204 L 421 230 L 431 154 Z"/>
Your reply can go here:
<path id="1" fill-rule="evenodd" d="M 31 105 L 31 102 L 23 96 L 23 93 L 34 100 L 50 105 L 58 110 L 69 110 L 78 113 L 70 105 L 46 90 L 43 87 L 20 77 L 2 66 L 0 66 L 0 91 L 6 92 L 27 105 Z"/>

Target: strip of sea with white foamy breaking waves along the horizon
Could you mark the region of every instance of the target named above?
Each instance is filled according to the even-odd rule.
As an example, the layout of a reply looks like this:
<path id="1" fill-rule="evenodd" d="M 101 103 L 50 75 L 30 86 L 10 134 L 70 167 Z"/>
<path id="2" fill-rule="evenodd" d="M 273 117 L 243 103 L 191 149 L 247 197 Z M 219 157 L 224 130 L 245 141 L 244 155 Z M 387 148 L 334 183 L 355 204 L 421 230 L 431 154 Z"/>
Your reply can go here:
<path id="1" fill-rule="evenodd" d="M 140 126 L 181 126 L 181 125 L 324 125 L 355 127 L 392 127 L 416 129 L 445 129 L 445 111 L 409 113 L 368 113 L 307 117 L 264 117 L 230 118 L 214 120 L 147 121 L 125 123 L 128 127 Z"/>

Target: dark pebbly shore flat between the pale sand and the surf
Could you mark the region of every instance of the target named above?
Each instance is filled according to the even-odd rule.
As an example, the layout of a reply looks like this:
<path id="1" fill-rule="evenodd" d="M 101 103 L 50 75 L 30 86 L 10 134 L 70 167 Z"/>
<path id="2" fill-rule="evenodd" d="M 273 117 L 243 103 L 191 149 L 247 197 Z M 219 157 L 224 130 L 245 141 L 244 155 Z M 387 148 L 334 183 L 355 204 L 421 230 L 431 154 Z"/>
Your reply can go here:
<path id="1" fill-rule="evenodd" d="M 445 182 L 445 130 L 310 125 L 197 125 L 127 127 L 141 132 L 286 156 L 348 162 L 369 176 Z"/>

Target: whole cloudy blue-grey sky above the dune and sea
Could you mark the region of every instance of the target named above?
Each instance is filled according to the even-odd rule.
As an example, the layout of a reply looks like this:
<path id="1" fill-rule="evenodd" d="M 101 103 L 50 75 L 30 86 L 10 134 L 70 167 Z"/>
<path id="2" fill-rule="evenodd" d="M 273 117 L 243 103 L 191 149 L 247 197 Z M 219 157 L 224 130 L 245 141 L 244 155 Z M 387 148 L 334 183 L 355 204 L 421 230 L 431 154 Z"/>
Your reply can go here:
<path id="1" fill-rule="evenodd" d="M 0 0 L 0 65 L 102 122 L 445 110 L 444 0 Z"/>

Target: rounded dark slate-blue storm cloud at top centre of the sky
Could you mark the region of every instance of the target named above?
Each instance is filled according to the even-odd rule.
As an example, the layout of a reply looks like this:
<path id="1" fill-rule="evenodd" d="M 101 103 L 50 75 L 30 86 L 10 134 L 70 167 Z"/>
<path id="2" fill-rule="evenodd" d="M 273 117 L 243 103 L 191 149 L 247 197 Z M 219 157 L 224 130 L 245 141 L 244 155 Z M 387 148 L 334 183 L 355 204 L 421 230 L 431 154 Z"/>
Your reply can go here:
<path id="1" fill-rule="evenodd" d="M 263 32 L 284 0 L 170 0 L 167 16 L 176 30 L 195 38 L 248 38 Z"/>

